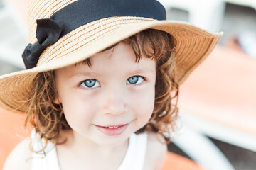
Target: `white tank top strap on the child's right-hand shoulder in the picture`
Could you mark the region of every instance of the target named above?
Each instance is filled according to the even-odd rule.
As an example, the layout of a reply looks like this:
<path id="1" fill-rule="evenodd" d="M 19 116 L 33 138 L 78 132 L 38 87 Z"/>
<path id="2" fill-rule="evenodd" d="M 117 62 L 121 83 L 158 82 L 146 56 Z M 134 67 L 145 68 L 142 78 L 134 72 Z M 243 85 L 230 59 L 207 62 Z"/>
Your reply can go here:
<path id="1" fill-rule="evenodd" d="M 132 134 L 129 137 L 129 147 L 118 170 L 143 169 L 146 156 L 147 134 Z"/>

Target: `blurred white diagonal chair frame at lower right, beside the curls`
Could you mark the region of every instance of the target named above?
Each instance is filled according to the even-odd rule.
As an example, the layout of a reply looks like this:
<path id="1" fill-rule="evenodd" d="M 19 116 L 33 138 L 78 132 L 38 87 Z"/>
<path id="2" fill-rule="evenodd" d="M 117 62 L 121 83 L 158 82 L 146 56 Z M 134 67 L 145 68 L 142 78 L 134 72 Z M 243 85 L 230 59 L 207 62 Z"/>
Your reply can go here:
<path id="1" fill-rule="evenodd" d="M 202 133 L 202 130 L 190 125 L 191 120 L 188 120 L 186 113 L 180 111 L 179 114 L 182 128 L 174 136 L 174 144 L 203 168 L 235 170 L 220 149 Z"/>

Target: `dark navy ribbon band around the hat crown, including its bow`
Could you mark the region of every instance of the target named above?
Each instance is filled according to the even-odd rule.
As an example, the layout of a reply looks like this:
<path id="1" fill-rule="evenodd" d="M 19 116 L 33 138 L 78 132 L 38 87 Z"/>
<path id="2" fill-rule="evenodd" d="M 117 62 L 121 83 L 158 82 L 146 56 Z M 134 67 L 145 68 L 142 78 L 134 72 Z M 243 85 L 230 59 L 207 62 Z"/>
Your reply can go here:
<path id="1" fill-rule="evenodd" d="M 46 47 L 53 45 L 70 31 L 102 18 L 138 16 L 166 20 L 166 11 L 156 0 L 78 0 L 55 12 L 48 19 L 38 19 L 34 44 L 28 44 L 22 58 L 26 69 L 36 67 Z"/>

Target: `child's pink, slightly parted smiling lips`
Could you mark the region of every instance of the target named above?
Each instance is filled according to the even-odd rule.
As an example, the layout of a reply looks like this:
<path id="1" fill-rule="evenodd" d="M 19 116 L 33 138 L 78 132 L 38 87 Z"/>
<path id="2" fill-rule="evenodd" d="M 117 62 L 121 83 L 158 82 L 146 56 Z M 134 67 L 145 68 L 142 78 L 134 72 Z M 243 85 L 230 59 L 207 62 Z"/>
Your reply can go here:
<path id="1" fill-rule="evenodd" d="M 95 125 L 97 130 L 100 130 L 100 132 L 104 133 L 108 136 L 114 136 L 114 135 L 121 135 L 124 130 L 128 127 L 129 123 L 124 125 L 110 125 L 110 126 L 100 126 Z"/>

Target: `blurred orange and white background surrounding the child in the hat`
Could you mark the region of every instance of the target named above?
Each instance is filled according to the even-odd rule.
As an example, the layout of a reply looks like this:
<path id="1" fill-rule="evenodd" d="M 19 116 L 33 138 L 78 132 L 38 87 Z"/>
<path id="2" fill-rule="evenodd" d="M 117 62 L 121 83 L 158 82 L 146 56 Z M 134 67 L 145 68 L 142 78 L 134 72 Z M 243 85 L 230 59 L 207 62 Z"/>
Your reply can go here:
<path id="1" fill-rule="evenodd" d="M 169 151 L 206 169 L 256 170 L 256 0 L 159 1 L 167 19 L 224 32 L 218 47 L 181 85 L 179 130 Z M 0 0 L 0 75 L 25 68 L 28 3 Z M 23 120 L 0 108 L 0 169 L 29 134 Z"/>

